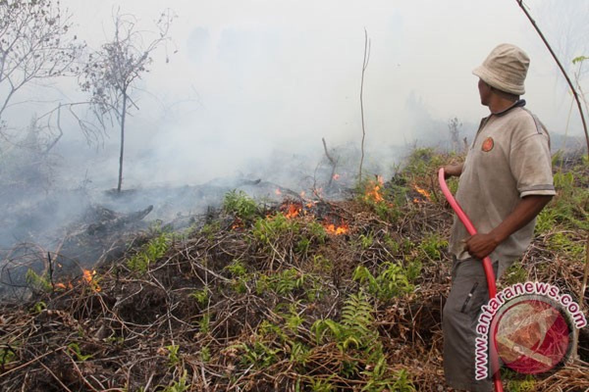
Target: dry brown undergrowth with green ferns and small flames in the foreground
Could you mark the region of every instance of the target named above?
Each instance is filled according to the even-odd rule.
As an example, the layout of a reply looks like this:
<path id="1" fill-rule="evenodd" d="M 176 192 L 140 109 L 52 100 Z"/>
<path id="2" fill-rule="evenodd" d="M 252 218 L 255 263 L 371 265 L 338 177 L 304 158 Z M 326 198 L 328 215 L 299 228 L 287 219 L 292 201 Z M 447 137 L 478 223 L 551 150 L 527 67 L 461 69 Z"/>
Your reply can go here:
<path id="1" fill-rule="evenodd" d="M 445 390 L 452 214 L 434 173 L 450 159 L 418 150 L 340 202 L 229 192 L 187 230 L 136 234 L 124 256 L 74 279 L 29 279 L 34 298 L 0 317 L 2 390 Z M 579 292 L 583 170 L 557 176 L 563 192 L 503 284 L 533 276 Z M 583 335 L 582 359 L 588 350 Z M 586 372 L 579 361 L 506 384 L 582 391 Z"/>

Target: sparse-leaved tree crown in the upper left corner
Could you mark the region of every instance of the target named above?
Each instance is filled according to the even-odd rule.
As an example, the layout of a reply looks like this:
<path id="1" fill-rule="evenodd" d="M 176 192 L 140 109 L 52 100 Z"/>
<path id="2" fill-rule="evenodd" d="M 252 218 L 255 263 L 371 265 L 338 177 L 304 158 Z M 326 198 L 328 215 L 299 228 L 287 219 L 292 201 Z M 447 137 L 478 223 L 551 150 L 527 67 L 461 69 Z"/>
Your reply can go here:
<path id="1" fill-rule="evenodd" d="M 84 45 L 68 36 L 70 28 L 59 1 L 0 0 L 0 129 L 25 86 L 77 73 Z"/>

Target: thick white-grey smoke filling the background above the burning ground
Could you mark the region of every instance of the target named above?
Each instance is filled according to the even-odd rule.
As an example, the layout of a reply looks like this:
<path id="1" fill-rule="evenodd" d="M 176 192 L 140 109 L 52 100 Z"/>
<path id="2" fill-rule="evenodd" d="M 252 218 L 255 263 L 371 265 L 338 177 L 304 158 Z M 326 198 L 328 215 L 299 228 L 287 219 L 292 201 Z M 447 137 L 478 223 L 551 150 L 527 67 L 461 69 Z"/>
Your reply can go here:
<path id="1" fill-rule="evenodd" d="M 111 35 L 119 6 L 149 31 L 163 5 L 155 0 L 61 3 L 90 48 Z M 530 3 L 573 72 L 572 58 L 589 55 L 589 3 Z M 155 53 L 151 72 L 134 91 L 140 110 L 127 119 L 125 134 L 123 188 L 142 191 L 120 199 L 104 193 L 117 182 L 114 124 L 101 143 L 88 146 L 77 122 L 64 118 L 65 135 L 51 160 L 43 161 L 52 168 L 48 182 L 44 187 L 28 182 L 22 192 L 27 197 L 11 196 L 16 215 L 14 225 L 0 233 L 3 246 L 41 241 L 38 233 L 67 226 L 92 205 L 131 212 L 153 204 L 148 219 L 168 219 L 218 204 L 225 190 L 248 180 L 262 180 L 262 186 L 248 188 L 260 197 L 272 196 L 273 185 L 309 192 L 330 175 L 322 138 L 339 156 L 337 170 L 348 181 L 342 187 L 353 185 L 364 28 L 371 42 L 364 86 L 369 172 L 393 175 L 415 145 L 448 146 L 451 118 L 461 120 L 461 138 L 472 140 L 487 108 L 479 105 L 471 71 L 501 42 L 530 53 L 524 98 L 553 134 L 565 132 L 567 88 L 515 1 L 171 0 L 166 6 L 178 15 L 171 28 L 175 44 Z M 581 72 L 582 86 L 585 79 Z M 7 120 L 15 129 L 55 102 L 85 99 L 77 81 L 68 79 L 51 88 L 32 86 L 21 101 L 39 95 L 49 103 L 29 102 L 11 111 Z M 567 132 L 582 135 L 576 113 Z M 19 170 L 33 173 L 35 165 L 22 162 Z M 203 195 L 200 185 L 217 193 Z M 24 210 L 27 219 L 19 219 Z"/>

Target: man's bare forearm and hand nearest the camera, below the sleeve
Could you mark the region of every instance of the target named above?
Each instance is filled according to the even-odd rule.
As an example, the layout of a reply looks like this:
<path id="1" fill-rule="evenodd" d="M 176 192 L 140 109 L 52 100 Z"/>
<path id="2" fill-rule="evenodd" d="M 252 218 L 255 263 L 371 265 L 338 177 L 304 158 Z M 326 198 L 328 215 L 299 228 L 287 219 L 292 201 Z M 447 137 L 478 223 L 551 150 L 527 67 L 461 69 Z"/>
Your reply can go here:
<path id="1" fill-rule="evenodd" d="M 521 229 L 535 216 L 545 205 L 550 202 L 552 195 L 525 196 L 515 206 L 514 210 L 495 229 L 487 234 L 475 234 L 465 240 L 464 249 L 471 256 L 482 259 L 488 256 L 495 248 L 504 242 L 511 234 Z"/>

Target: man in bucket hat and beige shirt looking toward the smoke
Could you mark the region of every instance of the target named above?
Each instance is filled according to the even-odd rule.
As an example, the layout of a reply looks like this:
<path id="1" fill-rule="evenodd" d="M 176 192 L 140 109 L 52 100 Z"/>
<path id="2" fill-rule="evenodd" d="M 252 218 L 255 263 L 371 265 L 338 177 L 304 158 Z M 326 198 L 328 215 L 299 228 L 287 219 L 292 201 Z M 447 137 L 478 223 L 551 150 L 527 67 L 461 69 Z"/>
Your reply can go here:
<path id="1" fill-rule="evenodd" d="M 555 195 L 550 139 L 519 99 L 530 65 L 527 54 L 503 43 L 472 73 L 479 77 L 482 119 L 466 160 L 445 166 L 460 176 L 456 200 L 478 234 L 470 236 L 454 217 L 449 240 L 452 288 L 444 306 L 444 372 L 457 390 L 491 391 L 489 379 L 475 381 L 475 327 L 488 301 L 481 259 L 490 256 L 496 279 L 531 242 L 535 217 Z"/>

